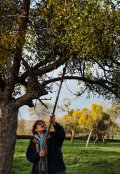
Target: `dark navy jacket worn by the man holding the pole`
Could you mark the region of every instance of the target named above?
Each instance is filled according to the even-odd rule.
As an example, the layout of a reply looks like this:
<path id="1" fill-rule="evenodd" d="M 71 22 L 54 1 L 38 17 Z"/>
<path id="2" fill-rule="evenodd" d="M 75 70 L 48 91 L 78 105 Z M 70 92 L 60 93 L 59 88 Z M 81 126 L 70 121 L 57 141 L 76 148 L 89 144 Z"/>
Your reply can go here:
<path id="1" fill-rule="evenodd" d="M 66 169 L 63 156 L 61 152 L 61 146 L 65 139 L 65 131 L 58 123 L 54 126 L 55 131 L 49 133 L 49 139 L 47 139 L 47 167 L 48 174 L 52 174 L 58 171 Z M 27 149 L 26 157 L 33 163 L 32 174 L 39 174 L 38 163 L 40 160 L 39 151 L 37 150 L 36 138 L 30 140 L 30 144 Z M 38 145 L 39 146 L 39 145 Z"/>

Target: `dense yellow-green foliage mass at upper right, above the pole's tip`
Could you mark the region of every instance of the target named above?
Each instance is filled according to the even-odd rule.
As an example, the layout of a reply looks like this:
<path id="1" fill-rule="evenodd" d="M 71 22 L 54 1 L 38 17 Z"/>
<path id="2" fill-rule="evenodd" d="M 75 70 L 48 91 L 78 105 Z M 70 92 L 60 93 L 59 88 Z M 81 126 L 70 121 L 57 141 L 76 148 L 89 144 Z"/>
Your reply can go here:
<path id="1" fill-rule="evenodd" d="M 51 48 L 70 58 L 77 53 L 82 61 L 111 59 L 118 51 L 119 25 L 117 6 L 112 5 L 98 0 L 45 1 Z"/>

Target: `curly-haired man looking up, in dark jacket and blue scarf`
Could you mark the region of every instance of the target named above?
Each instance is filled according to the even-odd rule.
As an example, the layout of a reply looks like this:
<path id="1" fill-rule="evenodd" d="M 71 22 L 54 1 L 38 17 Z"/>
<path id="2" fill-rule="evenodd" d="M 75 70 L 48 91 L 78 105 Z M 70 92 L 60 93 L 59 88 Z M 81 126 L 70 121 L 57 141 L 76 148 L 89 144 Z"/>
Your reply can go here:
<path id="1" fill-rule="evenodd" d="M 43 120 L 37 120 L 33 125 L 32 132 L 35 135 L 29 143 L 26 157 L 33 163 L 32 174 L 65 174 L 66 167 L 63 161 L 61 147 L 65 139 L 63 127 L 55 122 L 55 116 L 50 116 L 53 124 L 53 132 L 46 130 Z M 43 143 L 47 137 L 46 147 L 43 150 Z"/>

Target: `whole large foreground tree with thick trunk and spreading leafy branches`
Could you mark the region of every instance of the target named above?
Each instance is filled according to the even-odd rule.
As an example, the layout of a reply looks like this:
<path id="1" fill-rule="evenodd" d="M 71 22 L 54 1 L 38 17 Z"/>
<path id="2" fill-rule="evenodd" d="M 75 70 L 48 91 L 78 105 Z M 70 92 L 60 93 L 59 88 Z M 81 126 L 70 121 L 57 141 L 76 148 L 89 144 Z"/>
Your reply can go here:
<path id="1" fill-rule="evenodd" d="M 65 78 L 83 81 L 82 93 L 120 97 L 118 9 L 106 1 L 1 2 L 0 173 L 10 173 L 19 108 L 51 92 L 60 77 L 48 73 L 65 62 Z"/>

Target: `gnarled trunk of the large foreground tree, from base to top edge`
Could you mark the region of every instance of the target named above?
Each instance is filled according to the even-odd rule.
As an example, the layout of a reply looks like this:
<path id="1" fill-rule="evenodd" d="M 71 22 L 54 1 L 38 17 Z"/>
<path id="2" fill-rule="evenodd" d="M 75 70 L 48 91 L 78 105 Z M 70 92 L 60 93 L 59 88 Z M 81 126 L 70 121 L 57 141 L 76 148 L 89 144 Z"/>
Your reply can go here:
<path id="1" fill-rule="evenodd" d="M 27 30 L 29 9 L 30 0 L 23 0 L 22 13 L 20 16 L 21 22 L 19 24 L 18 35 L 16 38 L 14 58 L 11 63 L 12 68 L 11 72 L 9 72 L 10 76 L 8 76 L 8 79 L 6 79 L 5 82 L 2 78 L 0 78 L 0 83 L 2 83 L 2 85 L 0 84 L 0 109 L 2 116 L 0 124 L 0 174 L 10 174 L 16 143 L 18 108 L 24 105 L 24 102 L 22 104 L 22 102 L 20 103 L 20 101 L 18 101 L 17 107 L 15 105 L 17 99 L 15 100 L 12 97 L 12 94 L 14 92 L 15 85 L 17 84 L 18 74 L 20 70 L 20 62 L 22 60 L 22 52 L 25 44 L 25 34 Z M 25 95 L 23 96 L 23 98 L 26 98 Z"/>

